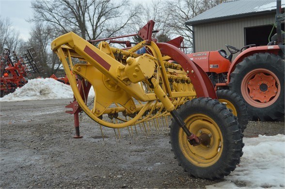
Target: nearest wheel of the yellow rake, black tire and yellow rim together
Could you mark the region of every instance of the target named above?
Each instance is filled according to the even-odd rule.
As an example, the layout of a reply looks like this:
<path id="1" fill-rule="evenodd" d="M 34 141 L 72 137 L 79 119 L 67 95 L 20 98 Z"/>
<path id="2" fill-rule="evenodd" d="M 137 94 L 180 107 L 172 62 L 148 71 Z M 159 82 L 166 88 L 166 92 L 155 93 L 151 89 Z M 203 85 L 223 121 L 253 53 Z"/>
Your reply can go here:
<path id="1" fill-rule="evenodd" d="M 190 145 L 187 135 L 173 119 L 170 143 L 178 165 L 194 177 L 211 180 L 234 171 L 240 162 L 244 143 L 232 112 L 211 98 L 187 101 L 177 112 L 191 133 L 206 137 L 206 143 Z"/>

